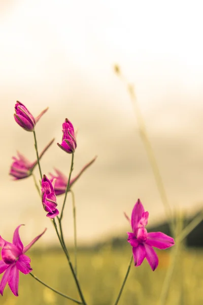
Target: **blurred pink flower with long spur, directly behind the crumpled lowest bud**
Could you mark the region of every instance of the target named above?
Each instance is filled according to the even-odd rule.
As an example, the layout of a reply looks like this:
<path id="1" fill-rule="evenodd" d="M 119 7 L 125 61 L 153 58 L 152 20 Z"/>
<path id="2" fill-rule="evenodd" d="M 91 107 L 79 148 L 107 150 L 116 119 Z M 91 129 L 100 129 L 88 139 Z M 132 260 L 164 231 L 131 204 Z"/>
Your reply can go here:
<path id="1" fill-rule="evenodd" d="M 96 160 L 96 157 L 94 157 L 94 159 L 92 159 L 89 163 L 87 163 L 79 172 L 79 174 L 70 180 L 70 189 L 72 187 L 72 185 L 78 180 L 78 178 L 81 176 L 81 174 L 85 171 L 86 168 L 88 168 L 94 161 Z M 61 195 L 65 193 L 66 187 L 67 187 L 67 182 L 68 182 L 68 178 L 58 169 L 55 169 L 55 172 L 57 175 L 53 175 L 50 173 L 51 176 L 51 183 L 53 182 L 53 180 L 55 180 L 55 184 L 54 184 L 54 192 L 57 195 Z M 69 189 L 69 191 L 70 191 Z"/>

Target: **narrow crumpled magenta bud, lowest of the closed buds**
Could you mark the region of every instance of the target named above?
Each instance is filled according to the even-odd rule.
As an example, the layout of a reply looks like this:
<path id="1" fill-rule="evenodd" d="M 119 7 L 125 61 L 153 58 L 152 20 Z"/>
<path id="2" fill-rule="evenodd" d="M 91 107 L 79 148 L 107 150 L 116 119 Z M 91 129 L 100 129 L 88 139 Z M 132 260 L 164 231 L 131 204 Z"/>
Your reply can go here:
<path id="1" fill-rule="evenodd" d="M 46 175 L 42 178 L 42 204 L 47 213 L 47 217 L 54 218 L 59 214 L 57 210 L 56 195 L 51 181 Z"/>

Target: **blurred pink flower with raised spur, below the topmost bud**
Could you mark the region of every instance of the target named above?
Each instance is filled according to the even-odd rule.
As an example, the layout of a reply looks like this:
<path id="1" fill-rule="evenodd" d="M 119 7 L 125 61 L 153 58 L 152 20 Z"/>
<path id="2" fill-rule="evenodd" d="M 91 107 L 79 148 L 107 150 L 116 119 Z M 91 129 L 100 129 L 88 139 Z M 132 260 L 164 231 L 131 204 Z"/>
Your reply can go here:
<path id="1" fill-rule="evenodd" d="M 43 149 L 42 153 L 39 156 L 39 159 L 42 158 L 45 151 L 49 148 L 49 146 L 53 143 L 54 139 L 49 142 L 49 144 Z M 14 177 L 14 180 L 23 179 L 29 177 L 37 165 L 37 160 L 35 162 L 30 162 L 27 160 L 22 154 L 17 151 L 18 157 L 13 157 L 14 162 L 11 165 L 10 175 Z"/>

